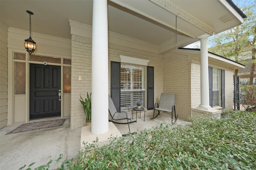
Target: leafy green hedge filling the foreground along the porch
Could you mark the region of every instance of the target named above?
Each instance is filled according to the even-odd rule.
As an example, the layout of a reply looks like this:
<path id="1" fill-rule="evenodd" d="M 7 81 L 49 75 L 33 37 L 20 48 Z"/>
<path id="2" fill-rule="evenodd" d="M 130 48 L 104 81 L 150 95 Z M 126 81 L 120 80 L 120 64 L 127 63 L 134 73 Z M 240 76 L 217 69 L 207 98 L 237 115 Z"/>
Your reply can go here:
<path id="1" fill-rule="evenodd" d="M 85 146 L 78 158 L 64 160 L 56 169 L 256 169 L 254 112 L 229 112 L 220 120 L 211 117 L 190 120 L 192 127 L 161 123 L 135 135 L 111 137 L 110 144 L 103 147 L 98 147 L 96 140 Z M 49 165 L 38 170 L 48 169 Z"/>

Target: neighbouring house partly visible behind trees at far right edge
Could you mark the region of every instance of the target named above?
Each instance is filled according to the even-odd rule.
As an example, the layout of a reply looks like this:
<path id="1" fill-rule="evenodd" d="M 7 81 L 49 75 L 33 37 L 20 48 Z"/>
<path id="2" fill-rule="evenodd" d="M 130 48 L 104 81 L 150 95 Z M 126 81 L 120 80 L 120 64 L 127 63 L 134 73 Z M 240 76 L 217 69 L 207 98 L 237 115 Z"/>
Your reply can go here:
<path id="1" fill-rule="evenodd" d="M 240 76 L 241 84 L 249 84 L 252 59 L 245 59 L 244 63 L 245 63 L 245 68 L 238 70 L 238 76 Z M 256 84 L 256 67 L 254 67 L 252 83 Z"/>

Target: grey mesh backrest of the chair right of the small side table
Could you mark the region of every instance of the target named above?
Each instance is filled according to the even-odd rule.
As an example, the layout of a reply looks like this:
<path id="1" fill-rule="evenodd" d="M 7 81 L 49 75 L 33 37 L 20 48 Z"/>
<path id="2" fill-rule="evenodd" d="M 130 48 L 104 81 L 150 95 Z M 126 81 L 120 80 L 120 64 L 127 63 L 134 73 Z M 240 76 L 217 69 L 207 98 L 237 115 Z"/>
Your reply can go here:
<path id="1" fill-rule="evenodd" d="M 159 108 L 172 110 L 175 105 L 175 94 L 162 93 L 159 102 Z"/>

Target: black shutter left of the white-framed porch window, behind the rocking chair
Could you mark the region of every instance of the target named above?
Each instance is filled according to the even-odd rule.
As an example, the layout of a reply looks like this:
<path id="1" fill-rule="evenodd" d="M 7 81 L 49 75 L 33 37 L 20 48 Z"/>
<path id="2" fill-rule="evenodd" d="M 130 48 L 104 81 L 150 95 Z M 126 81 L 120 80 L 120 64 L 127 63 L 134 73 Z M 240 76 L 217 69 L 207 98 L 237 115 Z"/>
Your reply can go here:
<path id="1" fill-rule="evenodd" d="M 110 76 L 110 86 L 111 86 L 111 98 L 116 107 L 117 111 L 120 111 L 120 98 L 121 98 L 121 63 L 116 61 L 111 61 L 111 76 Z"/>

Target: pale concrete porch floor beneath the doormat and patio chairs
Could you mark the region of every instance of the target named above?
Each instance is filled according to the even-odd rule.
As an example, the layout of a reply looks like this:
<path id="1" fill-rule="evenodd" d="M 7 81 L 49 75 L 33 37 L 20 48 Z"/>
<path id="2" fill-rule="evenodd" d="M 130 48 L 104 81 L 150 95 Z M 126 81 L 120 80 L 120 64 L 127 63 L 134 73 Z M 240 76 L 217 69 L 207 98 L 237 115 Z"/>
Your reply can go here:
<path id="1" fill-rule="evenodd" d="M 134 119 L 136 119 L 134 114 Z M 139 115 L 138 115 L 139 116 Z M 152 112 L 147 111 L 145 121 L 144 112 L 137 123 L 130 124 L 131 132 L 149 129 L 158 123 L 170 122 L 171 116 L 160 113 L 156 119 L 150 119 Z M 178 119 L 176 124 L 190 125 L 190 122 Z M 128 125 L 114 124 L 122 135 L 127 134 Z M 80 150 L 81 128 L 70 129 L 70 119 L 66 119 L 61 127 L 39 129 L 22 133 L 5 135 L 20 125 L 12 125 L 0 129 L 0 169 L 18 170 L 24 164 L 27 166 L 36 162 L 31 168 L 46 164 L 50 159 L 50 169 L 58 167 L 65 159 L 75 158 Z M 56 159 L 63 154 L 63 158 L 57 164 Z"/>

